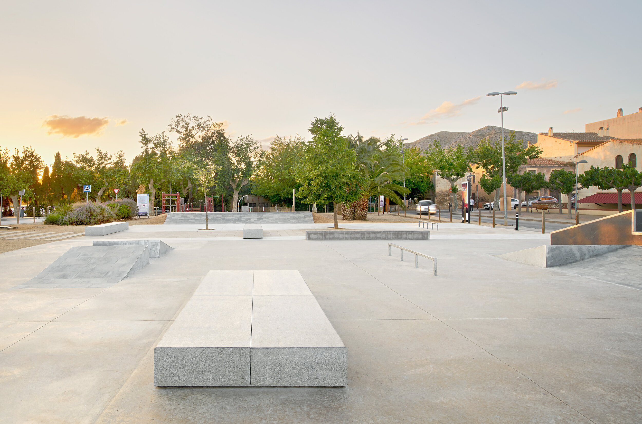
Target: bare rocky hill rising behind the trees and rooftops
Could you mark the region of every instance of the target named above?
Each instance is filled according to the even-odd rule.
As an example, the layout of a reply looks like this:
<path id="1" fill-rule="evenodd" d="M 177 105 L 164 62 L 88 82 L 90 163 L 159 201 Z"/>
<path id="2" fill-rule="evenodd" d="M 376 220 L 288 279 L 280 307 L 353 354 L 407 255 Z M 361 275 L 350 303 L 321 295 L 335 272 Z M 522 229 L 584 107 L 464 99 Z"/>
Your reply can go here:
<path id="1" fill-rule="evenodd" d="M 510 133 L 512 131 L 514 130 L 504 128 L 505 140 L 508 138 L 508 136 L 510 136 Z M 439 131 L 438 133 L 422 137 L 412 143 L 406 143 L 406 147 L 417 146 L 421 150 L 426 150 L 428 145 L 431 144 L 433 140 L 438 140 L 444 147 L 450 147 L 451 145 L 456 144 L 461 144 L 464 147 L 477 147 L 477 144 L 480 142 L 480 140 L 482 140 L 482 138 L 488 138 L 489 140 L 501 140 L 501 127 L 489 125 L 480 129 L 476 129 L 472 133 L 453 133 L 451 131 Z M 526 147 L 529 141 L 531 142 L 531 144 L 537 143 L 537 134 L 528 133 L 528 131 L 515 131 L 515 138 L 517 140 L 519 140 L 520 138 L 524 140 L 524 147 Z"/>

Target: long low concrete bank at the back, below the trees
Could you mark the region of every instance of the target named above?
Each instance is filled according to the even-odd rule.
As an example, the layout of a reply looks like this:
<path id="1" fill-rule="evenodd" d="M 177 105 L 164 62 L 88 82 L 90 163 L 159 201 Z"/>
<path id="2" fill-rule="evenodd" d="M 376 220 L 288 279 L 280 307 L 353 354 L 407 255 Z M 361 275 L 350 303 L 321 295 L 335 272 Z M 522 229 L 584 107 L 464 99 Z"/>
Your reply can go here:
<path id="1" fill-rule="evenodd" d="M 210 225 L 216 224 L 314 224 L 311 212 L 209 212 Z M 205 225 L 205 212 L 170 212 L 165 224 Z"/>

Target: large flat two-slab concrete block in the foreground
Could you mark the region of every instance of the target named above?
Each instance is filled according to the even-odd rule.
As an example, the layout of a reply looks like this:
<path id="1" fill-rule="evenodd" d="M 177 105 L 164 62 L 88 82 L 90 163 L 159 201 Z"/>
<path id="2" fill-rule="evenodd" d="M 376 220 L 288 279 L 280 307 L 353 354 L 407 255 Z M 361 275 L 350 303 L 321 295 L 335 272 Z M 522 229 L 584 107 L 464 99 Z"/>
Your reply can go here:
<path id="1" fill-rule="evenodd" d="M 345 345 L 298 271 L 210 271 L 154 348 L 155 386 L 345 384 Z"/>

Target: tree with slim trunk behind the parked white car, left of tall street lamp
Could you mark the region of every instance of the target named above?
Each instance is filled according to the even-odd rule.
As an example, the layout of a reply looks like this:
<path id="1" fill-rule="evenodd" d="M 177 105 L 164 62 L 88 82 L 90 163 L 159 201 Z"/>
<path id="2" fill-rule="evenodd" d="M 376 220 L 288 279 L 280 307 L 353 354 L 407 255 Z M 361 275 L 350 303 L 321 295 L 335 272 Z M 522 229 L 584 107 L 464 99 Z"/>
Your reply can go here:
<path id="1" fill-rule="evenodd" d="M 454 212 L 457 211 L 457 202 L 453 201 L 453 195 L 457 192 L 455 183 L 471 170 L 472 154 L 473 152 L 470 148 L 465 149 L 460 144 L 444 149 L 437 140 L 428 145 L 428 149 L 426 149 L 429 165 L 450 184 L 450 200 L 451 204 L 453 204 Z"/>

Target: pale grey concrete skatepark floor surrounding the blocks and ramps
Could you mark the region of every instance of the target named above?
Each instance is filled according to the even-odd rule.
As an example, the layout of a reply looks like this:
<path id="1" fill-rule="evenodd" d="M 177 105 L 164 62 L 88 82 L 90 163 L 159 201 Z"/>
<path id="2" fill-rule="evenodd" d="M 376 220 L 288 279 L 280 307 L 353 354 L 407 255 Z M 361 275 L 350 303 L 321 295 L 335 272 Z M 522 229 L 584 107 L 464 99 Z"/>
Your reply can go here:
<path id="1" fill-rule="evenodd" d="M 1 254 L 0 423 L 642 421 L 642 290 L 626 275 L 494 256 L 548 243 L 537 232 L 453 223 L 395 241 L 438 257 L 434 276 L 386 241 L 274 225 L 263 240 L 136 225 Z M 107 289 L 12 289 L 71 246 L 133 238 L 175 250 Z M 154 387 L 153 347 L 209 270 L 299 270 L 348 349 L 348 385 Z"/>

